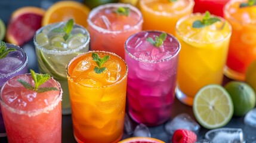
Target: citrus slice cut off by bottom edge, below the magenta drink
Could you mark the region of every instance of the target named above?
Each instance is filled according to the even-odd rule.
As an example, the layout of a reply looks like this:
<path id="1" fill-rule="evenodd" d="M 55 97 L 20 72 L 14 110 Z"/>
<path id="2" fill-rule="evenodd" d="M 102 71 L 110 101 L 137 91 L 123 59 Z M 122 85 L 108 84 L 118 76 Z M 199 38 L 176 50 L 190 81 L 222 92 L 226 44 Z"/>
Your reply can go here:
<path id="1" fill-rule="evenodd" d="M 156 138 L 149 138 L 149 137 L 132 137 L 127 138 L 122 141 L 119 141 L 118 143 L 164 143 L 164 141 L 161 141 Z"/>

